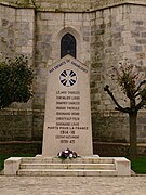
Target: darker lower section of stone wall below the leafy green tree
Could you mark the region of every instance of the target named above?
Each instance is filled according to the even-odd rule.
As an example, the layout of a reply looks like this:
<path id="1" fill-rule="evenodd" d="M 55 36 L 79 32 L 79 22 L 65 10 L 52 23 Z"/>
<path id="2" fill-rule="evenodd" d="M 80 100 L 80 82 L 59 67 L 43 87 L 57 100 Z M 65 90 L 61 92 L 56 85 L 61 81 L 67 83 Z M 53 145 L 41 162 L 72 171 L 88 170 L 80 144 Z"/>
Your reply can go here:
<path id="1" fill-rule="evenodd" d="M 4 109 L 0 112 L 0 141 L 31 140 L 32 113 L 30 110 Z"/>

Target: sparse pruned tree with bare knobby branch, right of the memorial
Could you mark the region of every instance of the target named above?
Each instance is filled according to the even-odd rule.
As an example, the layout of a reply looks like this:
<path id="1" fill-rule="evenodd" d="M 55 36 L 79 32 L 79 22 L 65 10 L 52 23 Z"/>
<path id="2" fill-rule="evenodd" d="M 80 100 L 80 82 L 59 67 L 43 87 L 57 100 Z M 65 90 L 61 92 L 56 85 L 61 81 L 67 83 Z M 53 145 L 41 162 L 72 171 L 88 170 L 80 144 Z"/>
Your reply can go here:
<path id="1" fill-rule="evenodd" d="M 137 113 L 146 105 L 146 80 L 142 78 L 136 66 L 128 60 L 119 63 L 119 67 L 112 67 L 114 80 L 120 86 L 121 91 L 129 100 L 129 106 L 121 106 L 110 91 L 109 86 L 105 86 L 104 90 L 109 94 L 116 105 L 116 109 L 129 114 L 130 128 L 130 157 L 137 156 L 137 129 L 136 119 Z"/>

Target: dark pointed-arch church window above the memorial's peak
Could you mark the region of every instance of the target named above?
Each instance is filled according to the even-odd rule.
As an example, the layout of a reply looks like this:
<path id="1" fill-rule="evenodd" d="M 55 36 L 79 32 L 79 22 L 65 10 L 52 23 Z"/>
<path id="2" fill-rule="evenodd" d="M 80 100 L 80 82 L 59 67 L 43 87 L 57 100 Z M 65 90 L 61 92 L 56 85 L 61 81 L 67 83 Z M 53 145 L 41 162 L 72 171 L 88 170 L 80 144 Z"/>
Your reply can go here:
<path id="1" fill-rule="evenodd" d="M 61 57 L 70 54 L 76 58 L 76 39 L 72 35 L 66 34 L 61 40 Z"/>

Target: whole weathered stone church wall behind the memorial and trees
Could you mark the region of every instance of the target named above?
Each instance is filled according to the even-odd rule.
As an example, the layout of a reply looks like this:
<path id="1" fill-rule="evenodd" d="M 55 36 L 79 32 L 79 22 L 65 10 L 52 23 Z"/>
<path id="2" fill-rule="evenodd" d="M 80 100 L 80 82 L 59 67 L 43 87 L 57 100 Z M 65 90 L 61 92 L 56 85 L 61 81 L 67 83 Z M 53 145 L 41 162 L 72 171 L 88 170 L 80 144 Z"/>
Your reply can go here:
<path id="1" fill-rule="evenodd" d="M 120 103 L 125 104 L 119 88 L 110 80 L 111 65 L 130 57 L 140 70 L 146 68 L 146 6 L 124 4 L 94 10 L 93 3 L 90 11 L 89 4 L 82 2 L 85 12 L 78 9 L 62 12 L 66 4 L 50 1 L 50 6 L 49 2 L 41 1 L 45 8 L 41 9 L 39 2 L 36 1 L 36 11 L 32 6 L 0 5 L 1 54 L 27 54 L 36 72 L 32 100 L 0 112 L 0 141 L 42 139 L 47 69 L 59 60 L 61 39 L 70 32 L 77 40 L 77 58 L 91 68 L 93 138 L 128 142 L 128 116 L 115 110 L 103 89 L 110 84 Z M 146 142 L 145 112 L 138 116 L 138 141 Z"/>

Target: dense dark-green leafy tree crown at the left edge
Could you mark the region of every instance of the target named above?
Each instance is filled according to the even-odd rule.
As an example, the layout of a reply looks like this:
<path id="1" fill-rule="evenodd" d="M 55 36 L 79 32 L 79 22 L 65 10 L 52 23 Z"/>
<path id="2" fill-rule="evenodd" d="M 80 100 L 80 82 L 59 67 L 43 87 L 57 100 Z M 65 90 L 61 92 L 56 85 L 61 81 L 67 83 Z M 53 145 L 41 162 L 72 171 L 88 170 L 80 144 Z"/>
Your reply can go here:
<path id="1" fill-rule="evenodd" d="M 24 55 L 0 62 L 0 109 L 32 96 L 34 72 Z"/>

